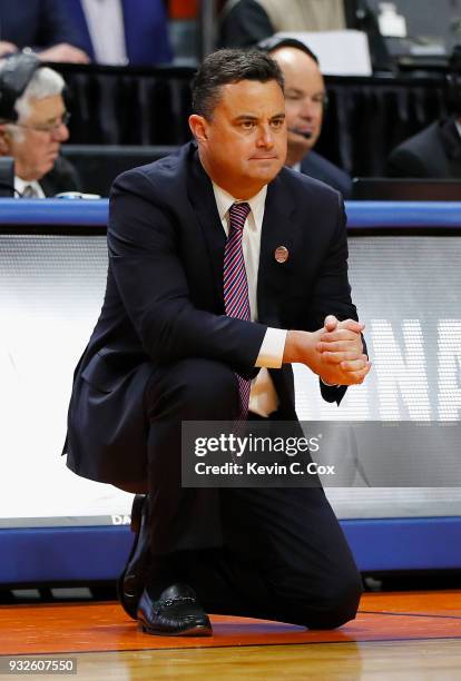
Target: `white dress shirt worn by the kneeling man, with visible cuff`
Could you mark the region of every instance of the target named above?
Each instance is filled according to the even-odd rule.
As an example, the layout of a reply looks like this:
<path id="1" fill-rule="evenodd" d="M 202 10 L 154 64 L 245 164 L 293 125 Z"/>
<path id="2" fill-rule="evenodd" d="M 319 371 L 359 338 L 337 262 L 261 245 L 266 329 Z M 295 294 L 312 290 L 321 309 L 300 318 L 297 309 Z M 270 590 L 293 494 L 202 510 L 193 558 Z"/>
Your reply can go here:
<path id="1" fill-rule="evenodd" d="M 216 206 L 226 236 L 229 234 L 229 208 L 238 199 L 234 198 L 213 182 Z M 259 267 L 261 231 L 264 219 L 264 207 L 267 187 L 247 199 L 251 211 L 245 220 L 242 247 L 244 253 L 246 278 L 248 282 L 248 299 L 252 322 L 257 322 L 257 270 Z M 281 328 L 267 328 L 263 344 L 259 349 L 255 366 L 261 368 L 256 378 L 252 382 L 249 393 L 249 411 L 268 416 L 278 407 L 278 397 L 267 368 L 279 368 L 282 366 L 287 332 Z"/>

